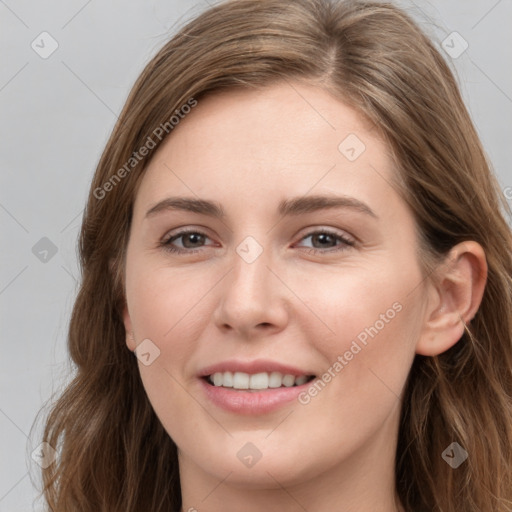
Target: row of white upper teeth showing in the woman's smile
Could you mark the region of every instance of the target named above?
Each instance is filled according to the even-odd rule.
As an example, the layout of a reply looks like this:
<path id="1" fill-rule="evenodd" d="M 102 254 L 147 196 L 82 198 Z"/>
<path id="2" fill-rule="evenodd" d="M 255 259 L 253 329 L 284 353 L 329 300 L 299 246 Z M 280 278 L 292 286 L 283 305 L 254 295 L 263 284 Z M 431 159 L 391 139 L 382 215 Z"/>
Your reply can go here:
<path id="1" fill-rule="evenodd" d="M 244 372 L 217 372 L 208 377 L 210 383 L 214 386 L 222 386 L 234 389 L 269 389 L 280 388 L 282 386 L 290 388 L 292 386 L 302 386 L 309 380 L 309 376 L 301 375 L 283 375 L 280 372 L 262 372 L 249 375 Z"/>

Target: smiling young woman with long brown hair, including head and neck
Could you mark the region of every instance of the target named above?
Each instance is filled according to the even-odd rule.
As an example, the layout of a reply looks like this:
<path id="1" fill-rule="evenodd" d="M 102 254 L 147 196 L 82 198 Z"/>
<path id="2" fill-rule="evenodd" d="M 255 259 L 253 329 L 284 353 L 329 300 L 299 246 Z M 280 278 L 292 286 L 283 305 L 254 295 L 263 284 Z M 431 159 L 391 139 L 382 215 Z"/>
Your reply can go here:
<path id="1" fill-rule="evenodd" d="M 204 12 L 91 185 L 49 506 L 512 510 L 506 208 L 396 7 Z"/>

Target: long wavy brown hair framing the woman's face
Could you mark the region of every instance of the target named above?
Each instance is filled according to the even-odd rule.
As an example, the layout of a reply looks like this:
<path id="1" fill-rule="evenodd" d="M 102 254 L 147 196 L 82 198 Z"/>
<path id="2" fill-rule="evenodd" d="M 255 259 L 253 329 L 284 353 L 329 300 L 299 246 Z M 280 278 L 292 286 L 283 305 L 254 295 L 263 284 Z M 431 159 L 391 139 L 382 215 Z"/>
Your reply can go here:
<path id="1" fill-rule="evenodd" d="M 426 277 L 455 244 L 475 240 L 484 248 L 488 280 L 476 316 L 452 349 L 418 355 L 411 368 L 396 491 L 408 512 L 512 510 L 511 212 L 449 66 L 388 3 L 231 0 L 189 22 L 145 67 L 96 169 L 68 337 L 76 370 L 44 429 L 58 452 L 42 473 L 54 512 L 180 508 L 176 446 L 125 344 L 132 205 L 162 130 L 172 136 L 169 120 L 176 123 L 185 105 L 282 80 L 325 88 L 385 137 L 418 226 Z M 153 147 L 141 156 L 149 138 Z M 469 454 L 456 470 L 441 456 L 454 441 Z"/>

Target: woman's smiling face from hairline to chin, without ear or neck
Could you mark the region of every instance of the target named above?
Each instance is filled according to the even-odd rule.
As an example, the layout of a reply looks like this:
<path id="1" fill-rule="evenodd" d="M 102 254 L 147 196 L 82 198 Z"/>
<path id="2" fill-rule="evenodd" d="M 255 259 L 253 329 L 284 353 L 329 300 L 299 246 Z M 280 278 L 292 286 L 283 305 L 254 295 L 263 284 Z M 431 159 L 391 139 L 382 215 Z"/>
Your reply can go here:
<path id="1" fill-rule="evenodd" d="M 184 474 L 275 487 L 392 459 L 424 311 L 394 172 L 358 113 L 299 84 L 201 100 L 158 149 L 124 321 Z"/>

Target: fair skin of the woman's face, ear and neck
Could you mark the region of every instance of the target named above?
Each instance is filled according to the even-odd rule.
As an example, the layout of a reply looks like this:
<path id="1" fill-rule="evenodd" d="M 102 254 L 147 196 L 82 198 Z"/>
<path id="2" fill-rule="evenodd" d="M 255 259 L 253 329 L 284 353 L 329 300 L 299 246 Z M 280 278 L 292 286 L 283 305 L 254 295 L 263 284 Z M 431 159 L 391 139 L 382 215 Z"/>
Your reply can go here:
<path id="1" fill-rule="evenodd" d="M 366 146 L 354 161 L 338 149 L 349 134 Z M 178 446 L 183 511 L 403 510 L 393 470 L 409 369 L 415 354 L 440 354 L 460 339 L 486 262 L 465 242 L 435 280 L 424 279 L 394 172 L 357 112 L 298 83 L 201 100 L 157 150 L 134 204 L 124 323 L 130 350 L 147 338 L 160 350 L 139 370 Z M 311 195 L 351 196 L 376 217 L 350 208 L 278 214 L 281 200 Z M 214 200 L 226 215 L 145 218 L 169 196 Z M 166 251 L 160 243 L 182 228 L 206 237 L 175 239 L 188 253 Z M 355 244 L 309 236 L 322 229 Z M 247 236 L 263 248 L 252 263 L 236 252 Z M 202 392 L 199 370 L 231 358 L 321 376 L 396 303 L 400 312 L 306 405 L 241 416 Z M 250 468 L 237 457 L 248 442 L 262 453 Z"/>

